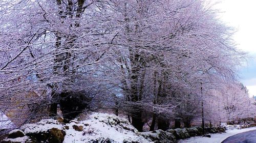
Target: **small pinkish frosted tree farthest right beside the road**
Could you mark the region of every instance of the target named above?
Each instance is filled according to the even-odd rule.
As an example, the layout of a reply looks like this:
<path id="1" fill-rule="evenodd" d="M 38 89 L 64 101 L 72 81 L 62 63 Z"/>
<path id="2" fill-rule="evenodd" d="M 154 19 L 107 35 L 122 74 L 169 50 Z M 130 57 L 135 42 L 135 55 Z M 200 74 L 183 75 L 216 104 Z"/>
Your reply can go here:
<path id="1" fill-rule="evenodd" d="M 207 120 L 216 123 L 231 123 L 240 119 L 253 118 L 253 103 L 247 89 L 241 83 L 223 83 L 211 90 L 206 108 Z"/>

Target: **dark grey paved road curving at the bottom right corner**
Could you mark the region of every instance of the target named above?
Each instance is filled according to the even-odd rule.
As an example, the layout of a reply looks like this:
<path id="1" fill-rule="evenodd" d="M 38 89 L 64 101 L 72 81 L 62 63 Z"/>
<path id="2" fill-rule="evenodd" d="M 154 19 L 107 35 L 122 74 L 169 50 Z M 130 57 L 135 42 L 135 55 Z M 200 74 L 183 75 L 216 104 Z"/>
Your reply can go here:
<path id="1" fill-rule="evenodd" d="M 256 130 L 230 136 L 221 143 L 256 143 Z"/>

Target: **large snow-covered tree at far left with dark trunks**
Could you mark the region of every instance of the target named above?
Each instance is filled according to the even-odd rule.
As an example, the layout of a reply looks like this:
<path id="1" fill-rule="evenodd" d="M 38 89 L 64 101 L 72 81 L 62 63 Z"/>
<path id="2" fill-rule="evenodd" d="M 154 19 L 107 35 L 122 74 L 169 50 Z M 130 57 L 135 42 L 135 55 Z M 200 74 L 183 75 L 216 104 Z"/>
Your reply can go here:
<path id="1" fill-rule="evenodd" d="M 60 93 L 93 92 L 92 65 L 105 59 L 108 45 L 103 2 L 20 0 L 1 6 L 0 84 L 6 100 L 45 90 L 37 98 L 48 98 L 55 116 Z"/>

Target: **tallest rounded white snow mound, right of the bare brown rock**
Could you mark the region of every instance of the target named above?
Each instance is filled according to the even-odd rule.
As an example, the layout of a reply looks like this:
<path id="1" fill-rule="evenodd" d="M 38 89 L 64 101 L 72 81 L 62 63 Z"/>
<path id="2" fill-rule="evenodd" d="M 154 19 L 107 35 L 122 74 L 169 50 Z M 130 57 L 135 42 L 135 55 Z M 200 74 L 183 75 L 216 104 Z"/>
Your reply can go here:
<path id="1" fill-rule="evenodd" d="M 78 131 L 78 128 L 82 131 Z M 151 142 L 127 120 L 106 113 L 93 113 L 88 120 L 66 124 L 63 142 Z"/>

